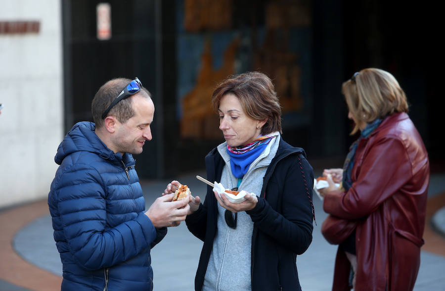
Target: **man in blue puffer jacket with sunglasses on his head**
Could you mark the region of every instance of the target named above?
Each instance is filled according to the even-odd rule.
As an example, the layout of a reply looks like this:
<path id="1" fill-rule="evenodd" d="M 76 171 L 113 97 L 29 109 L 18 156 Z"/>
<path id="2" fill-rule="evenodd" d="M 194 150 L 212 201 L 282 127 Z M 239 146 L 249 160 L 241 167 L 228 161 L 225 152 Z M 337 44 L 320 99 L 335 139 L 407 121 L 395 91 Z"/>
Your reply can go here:
<path id="1" fill-rule="evenodd" d="M 150 249 L 185 219 L 189 199 L 165 195 L 144 212 L 132 154 L 152 139 L 154 104 L 137 78 L 105 83 L 91 111 L 94 123 L 77 123 L 59 145 L 48 194 L 61 289 L 152 290 Z"/>

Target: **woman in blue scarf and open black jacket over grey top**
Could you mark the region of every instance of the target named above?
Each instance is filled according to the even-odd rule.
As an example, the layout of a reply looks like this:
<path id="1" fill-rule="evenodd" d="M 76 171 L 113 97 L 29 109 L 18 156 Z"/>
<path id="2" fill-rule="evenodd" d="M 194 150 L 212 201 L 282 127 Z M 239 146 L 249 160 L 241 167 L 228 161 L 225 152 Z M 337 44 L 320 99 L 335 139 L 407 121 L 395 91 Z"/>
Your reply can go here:
<path id="1" fill-rule="evenodd" d="M 306 153 L 283 141 L 281 107 L 265 74 L 229 77 L 212 103 L 225 142 L 205 158 L 207 179 L 248 194 L 231 203 L 209 186 L 204 203 L 191 197 L 185 222 L 204 242 L 195 290 L 301 290 L 296 258 L 312 242 L 314 219 Z"/>

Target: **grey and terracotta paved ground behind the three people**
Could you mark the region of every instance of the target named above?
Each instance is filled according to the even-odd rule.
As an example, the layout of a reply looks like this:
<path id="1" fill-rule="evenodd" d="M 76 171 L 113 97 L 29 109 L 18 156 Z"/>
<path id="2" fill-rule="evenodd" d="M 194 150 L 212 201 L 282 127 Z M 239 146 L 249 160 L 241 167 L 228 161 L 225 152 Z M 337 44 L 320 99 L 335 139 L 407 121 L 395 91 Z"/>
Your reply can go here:
<path id="1" fill-rule="evenodd" d="M 315 174 L 319 172 L 315 171 Z M 205 177 L 203 172 L 194 173 L 181 177 L 180 182 L 187 184 L 192 194 L 202 196 L 206 185 L 198 181 L 195 175 Z M 445 206 L 444 181 L 445 173 L 432 175 L 428 218 Z M 147 209 L 168 182 L 141 183 Z M 328 244 L 320 233 L 326 214 L 316 196 L 314 207 L 317 225 L 314 225 L 313 241 L 309 249 L 298 256 L 297 267 L 303 290 L 328 291 L 331 289 L 337 246 Z M 19 222 L 23 219 L 25 221 Z M 0 222 L 0 251 L 3 249 L 0 252 L 0 291 L 60 290 L 62 265 L 52 238 L 46 201 L 3 210 L 0 212 Z M 422 247 L 421 266 L 414 290 L 445 291 L 445 238 L 433 232 L 427 223 L 424 239 L 426 244 Z M 178 247 L 179 242 L 181 247 Z M 169 228 L 166 238 L 151 251 L 154 290 L 193 290 L 201 247 L 202 242 L 188 232 L 185 223 Z"/>

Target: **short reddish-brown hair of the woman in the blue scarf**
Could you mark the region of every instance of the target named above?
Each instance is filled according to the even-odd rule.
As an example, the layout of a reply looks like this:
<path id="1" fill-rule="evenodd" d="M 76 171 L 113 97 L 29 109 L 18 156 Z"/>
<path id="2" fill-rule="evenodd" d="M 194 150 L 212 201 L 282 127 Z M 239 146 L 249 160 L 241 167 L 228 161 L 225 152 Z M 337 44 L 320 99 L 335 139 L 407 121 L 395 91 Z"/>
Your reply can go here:
<path id="1" fill-rule="evenodd" d="M 262 135 L 281 132 L 281 106 L 275 88 L 267 75 L 260 72 L 247 72 L 229 76 L 220 83 L 212 94 L 212 104 L 216 112 L 221 98 L 226 94 L 238 97 L 246 114 L 255 120 L 267 118 L 261 129 Z"/>

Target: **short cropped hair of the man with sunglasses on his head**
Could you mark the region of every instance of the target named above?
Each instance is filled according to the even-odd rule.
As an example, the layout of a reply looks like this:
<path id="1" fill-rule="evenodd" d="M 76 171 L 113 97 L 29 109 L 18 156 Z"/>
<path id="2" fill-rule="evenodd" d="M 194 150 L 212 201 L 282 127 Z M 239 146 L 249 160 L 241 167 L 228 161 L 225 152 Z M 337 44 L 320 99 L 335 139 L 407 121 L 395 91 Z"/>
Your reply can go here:
<path id="1" fill-rule="evenodd" d="M 96 128 L 103 126 L 102 113 L 131 81 L 132 80 L 126 78 L 116 78 L 106 82 L 99 88 L 91 102 L 91 114 Z M 142 94 L 142 96 L 147 98 L 151 97 L 150 92 L 144 87 L 142 87 L 137 94 Z M 127 120 L 134 116 L 132 100 L 133 98 L 125 98 L 119 101 L 110 109 L 108 115 L 116 117 L 121 123 L 127 122 Z"/>

